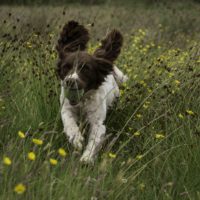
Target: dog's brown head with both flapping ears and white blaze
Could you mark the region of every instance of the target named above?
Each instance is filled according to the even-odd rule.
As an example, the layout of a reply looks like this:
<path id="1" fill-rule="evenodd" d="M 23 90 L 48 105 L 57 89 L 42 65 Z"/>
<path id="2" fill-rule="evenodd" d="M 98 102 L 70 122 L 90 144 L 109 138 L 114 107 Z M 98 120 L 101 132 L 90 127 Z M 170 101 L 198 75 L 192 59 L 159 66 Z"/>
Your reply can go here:
<path id="1" fill-rule="evenodd" d="M 111 31 L 93 55 L 85 51 L 88 40 L 87 29 L 75 21 L 68 22 L 60 34 L 57 74 L 69 89 L 97 89 L 112 73 L 123 39 L 119 31 Z"/>

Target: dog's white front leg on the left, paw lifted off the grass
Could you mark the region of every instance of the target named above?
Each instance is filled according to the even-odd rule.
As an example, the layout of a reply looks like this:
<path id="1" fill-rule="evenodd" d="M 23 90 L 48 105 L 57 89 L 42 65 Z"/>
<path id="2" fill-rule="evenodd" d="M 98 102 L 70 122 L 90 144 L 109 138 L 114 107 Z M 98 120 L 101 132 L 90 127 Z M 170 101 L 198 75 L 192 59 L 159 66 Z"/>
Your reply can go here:
<path id="1" fill-rule="evenodd" d="M 69 142 L 73 144 L 73 146 L 81 150 L 83 136 L 77 126 L 76 116 L 73 113 L 73 107 L 70 105 L 68 99 L 65 99 L 61 108 L 61 118 L 64 126 L 64 132 L 69 138 Z"/>

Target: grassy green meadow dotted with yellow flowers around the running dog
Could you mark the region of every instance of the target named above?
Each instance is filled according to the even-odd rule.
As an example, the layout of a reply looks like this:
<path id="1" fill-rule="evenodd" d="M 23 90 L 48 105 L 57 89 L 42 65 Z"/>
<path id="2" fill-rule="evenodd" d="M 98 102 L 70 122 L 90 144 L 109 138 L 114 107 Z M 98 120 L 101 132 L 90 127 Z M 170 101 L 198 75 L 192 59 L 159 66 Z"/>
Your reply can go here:
<path id="1" fill-rule="evenodd" d="M 200 199 L 200 4 L 0 6 L 0 200 Z M 60 119 L 55 45 L 74 19 L 93 52 L 118 28 L 129 80 L 94 166 Z"/>

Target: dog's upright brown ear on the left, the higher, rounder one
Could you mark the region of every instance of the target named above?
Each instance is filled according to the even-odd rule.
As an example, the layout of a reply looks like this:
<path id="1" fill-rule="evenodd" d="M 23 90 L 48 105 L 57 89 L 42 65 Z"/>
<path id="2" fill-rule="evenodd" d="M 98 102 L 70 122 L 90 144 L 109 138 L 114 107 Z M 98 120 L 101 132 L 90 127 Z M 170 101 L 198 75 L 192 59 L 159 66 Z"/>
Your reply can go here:
<path id="1" fill-rule="evenodd" d="M 63 27 L 56 46 L 59 57 L 68 52 L 85 50 L 88 41 L 88 30 L 76 21 L 69 21 Z"/>

